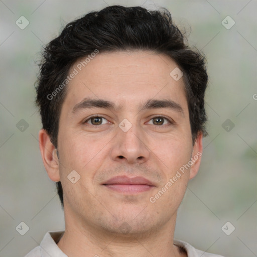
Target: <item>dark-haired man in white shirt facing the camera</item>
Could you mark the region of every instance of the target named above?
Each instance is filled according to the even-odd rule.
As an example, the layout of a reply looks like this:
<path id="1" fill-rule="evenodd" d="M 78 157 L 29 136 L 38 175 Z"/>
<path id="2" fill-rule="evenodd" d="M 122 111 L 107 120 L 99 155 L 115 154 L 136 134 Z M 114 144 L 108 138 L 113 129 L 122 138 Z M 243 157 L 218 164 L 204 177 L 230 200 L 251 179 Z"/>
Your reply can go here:
<path id="1" fill-rule="evenodd" d="M 89 13 L 48 44 L 40 71 L 40 150 L 65 231 L 26 256 L 220 256 L 174 239 L 207 135 L 207 73 L 170 13 Z"/>

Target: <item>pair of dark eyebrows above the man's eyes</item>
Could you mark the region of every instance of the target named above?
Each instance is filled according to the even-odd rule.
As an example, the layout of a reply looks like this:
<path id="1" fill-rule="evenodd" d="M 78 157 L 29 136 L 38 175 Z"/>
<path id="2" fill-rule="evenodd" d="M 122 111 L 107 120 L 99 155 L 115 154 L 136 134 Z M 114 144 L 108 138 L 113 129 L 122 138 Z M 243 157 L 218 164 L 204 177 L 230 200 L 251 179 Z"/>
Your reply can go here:
<path id="1" fill-rule="evenodd" d="M 75 113 L 77 110 L 81 109 L 90 109 L 90 108 L 104 108 L 113 111 L 121 110 L 121 106 L 116 106 L 114 102 L 103 100 L 103 99 L 92 99 L 92 98 L 84 98 L 81 102 L 77 103 L 73 109 L 72 113 Z M 184 115 L 183 108 L 180 104 L 174 102 L 170 99 L 162 99 L 162 100 L 154 100 L 148 99 L 144 104 L 139 106 L 139 111 L 145 109 L 157 109 L 157 108 L 169 108 L 171 110 L 175 110 Z"/>

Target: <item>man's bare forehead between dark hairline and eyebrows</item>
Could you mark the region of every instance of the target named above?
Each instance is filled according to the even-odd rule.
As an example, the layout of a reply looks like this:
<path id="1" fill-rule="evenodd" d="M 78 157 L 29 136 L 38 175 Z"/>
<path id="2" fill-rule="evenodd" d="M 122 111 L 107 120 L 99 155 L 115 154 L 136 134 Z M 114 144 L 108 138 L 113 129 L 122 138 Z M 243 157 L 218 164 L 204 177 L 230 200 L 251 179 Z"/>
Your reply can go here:
<path id="1" fill-rule="evenodd" d="M 124 104 L 138 108 L 142 99 L 171 98 L 183 105 L 183 77 L 176 81 L 170 75 L 175 68 L 171 58 L 152 52 L 99 52 L 71 67 L 70 73 L 76 75 L 68 84 L 65 102 L 73 108 L 90 97 L 110 100 L 121 109 Z"/>

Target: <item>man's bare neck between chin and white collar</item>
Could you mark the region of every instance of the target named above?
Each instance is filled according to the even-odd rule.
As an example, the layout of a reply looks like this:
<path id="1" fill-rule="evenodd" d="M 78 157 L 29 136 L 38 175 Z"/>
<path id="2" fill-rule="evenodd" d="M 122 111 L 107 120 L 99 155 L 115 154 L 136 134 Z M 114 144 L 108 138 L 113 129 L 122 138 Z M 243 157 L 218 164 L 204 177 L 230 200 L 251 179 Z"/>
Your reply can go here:
<path id="1" fill-rule="evenodd" d="M 65 213 L 66 228 L 57 245 L 73 257 L 84 257 L 85 253 L 94 257 L 184 257 L 186 253 L 173 245 L 175 222 L 176 214 L 162 227 L 147 233 L 110 233 Z"/>

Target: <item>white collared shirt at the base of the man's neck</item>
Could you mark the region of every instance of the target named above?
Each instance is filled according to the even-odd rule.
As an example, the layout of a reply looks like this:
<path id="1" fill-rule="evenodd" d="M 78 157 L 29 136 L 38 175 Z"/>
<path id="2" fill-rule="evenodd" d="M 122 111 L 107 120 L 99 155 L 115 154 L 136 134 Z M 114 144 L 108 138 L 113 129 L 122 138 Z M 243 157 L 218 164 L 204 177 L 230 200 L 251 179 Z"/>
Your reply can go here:
<path id="1" fill-rule="evenodd" d="M 57 243 L 61 239 L 64 231 L 49 231 L 45 234 L 42 242 L 39 246 L 31 250 L 25 257 L 68 257 L 57 246 Z M 188 257 L 223 257 L 201 250 L 195 249 L 187 242 L 174 239 L 174 244 L 184 248 Z"/>

